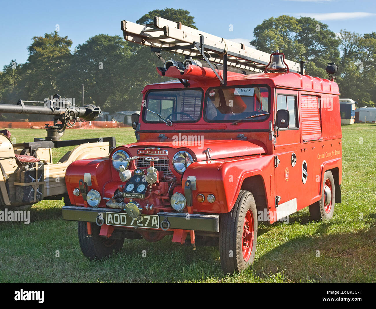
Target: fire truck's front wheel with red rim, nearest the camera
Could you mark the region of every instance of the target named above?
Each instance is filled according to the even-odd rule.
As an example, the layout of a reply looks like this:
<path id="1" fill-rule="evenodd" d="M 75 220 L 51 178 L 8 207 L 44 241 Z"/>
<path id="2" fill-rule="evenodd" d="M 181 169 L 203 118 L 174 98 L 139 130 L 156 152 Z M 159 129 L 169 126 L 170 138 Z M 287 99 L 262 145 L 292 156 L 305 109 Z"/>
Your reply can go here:
<path id="1" fill-rule="evenodd" d="M 250 212 L 249 215 L 247 215 L 247 212 Z M 251 233 L 251 230 L 252 233 L 250 236 L 247 236 L 252 238 L 252 242 L 250 239 L 243 238 L 243 234 L 247 233 L 247 229 L 245 228 L 246 217 L 248 219 L 253 218 L 253 228 L 249 229 L 249 233 Z M 237 201 L 232 210 L 229 213 L 221 215 L 220 218 L 219 252 L 223 272 L 240 272 L 252 265 L 253 260 L 255 260 L 256 243 L 257 209 L 255 199 L 249 191 L 240 190 Z M 244 253 L 243 244 L 249 244 L 245 249 L 245 251 L 248 250 L 246 253 Z M 250 253 L 247 248 L 251 248 Z M 243 254 L 246 254 L 249 258 L 244 259 Z"/>

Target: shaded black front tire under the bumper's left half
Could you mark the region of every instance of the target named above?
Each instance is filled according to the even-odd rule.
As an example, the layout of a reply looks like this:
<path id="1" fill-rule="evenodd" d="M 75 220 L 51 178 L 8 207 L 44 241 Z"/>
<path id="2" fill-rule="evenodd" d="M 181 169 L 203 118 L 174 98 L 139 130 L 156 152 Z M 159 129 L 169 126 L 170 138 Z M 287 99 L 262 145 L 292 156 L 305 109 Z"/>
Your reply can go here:
<path id="1" fill-rule="evenodd" d="M 88 235 L 87 222 L 78 222 L 78 240 L 81 251 L 89 260 L 103 259 L 123 248 L 124 239 L 105 239 L 99 236 L 100 227 L 91 223 L 91 235 Z"/>

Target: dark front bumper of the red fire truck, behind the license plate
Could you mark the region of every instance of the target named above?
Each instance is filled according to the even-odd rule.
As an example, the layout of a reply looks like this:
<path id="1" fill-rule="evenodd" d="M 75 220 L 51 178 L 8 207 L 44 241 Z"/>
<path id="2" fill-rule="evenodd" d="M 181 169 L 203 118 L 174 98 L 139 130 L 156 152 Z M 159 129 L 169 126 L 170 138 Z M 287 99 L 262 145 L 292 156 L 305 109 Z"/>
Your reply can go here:
<path id="1" fill-rule="evenodd" d="M 99 213 L 103 213 L 103 219 L 106 221 L 106 212 L 121 213 L 123 211 L 121 209 L 63 206 L 63 220 L 96 222 Z M 219 232 L 218 215 L 190 214 L 189 219 L 185 213 L 159 212 L 156 215 L 159 217 L 159 222 L 167 219 L 171 229 Z"/>

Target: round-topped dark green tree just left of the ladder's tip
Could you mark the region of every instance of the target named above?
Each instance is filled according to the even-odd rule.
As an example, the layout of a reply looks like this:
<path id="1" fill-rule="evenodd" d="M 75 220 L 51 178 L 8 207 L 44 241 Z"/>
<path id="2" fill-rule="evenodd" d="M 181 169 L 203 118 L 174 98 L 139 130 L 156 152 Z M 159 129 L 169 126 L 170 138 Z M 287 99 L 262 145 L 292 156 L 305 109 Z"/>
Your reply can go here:
<path id="1" fill-rule="evenodd" d="M 84 84 L 85 103 L 94 103 L 106 111 L 124 110 L 127 96 L 124 76 L 130 53 L 127 42 L 118 35 L 99 34 L 89 38 L 73 53 L 70 67 L 64 74 L 66 88 L 80 98 Z"/>

